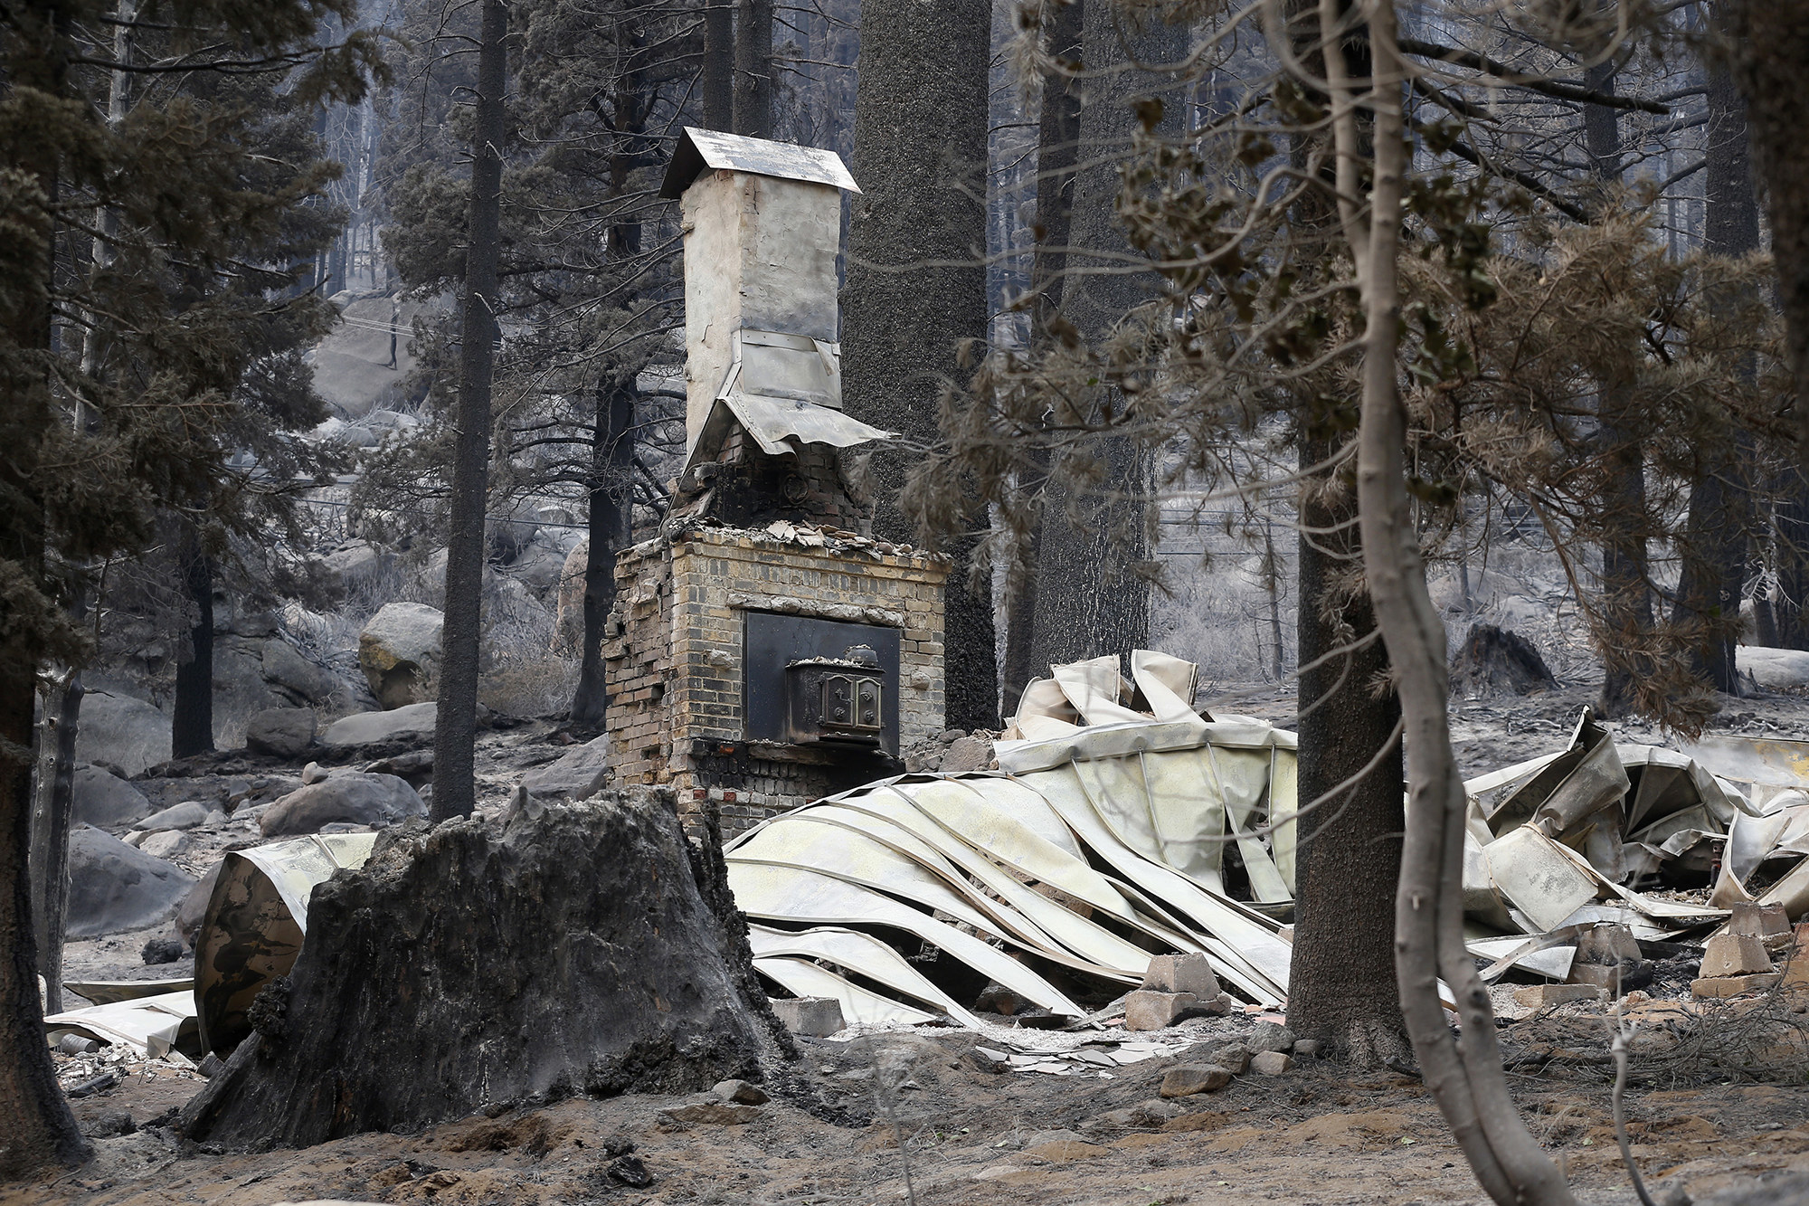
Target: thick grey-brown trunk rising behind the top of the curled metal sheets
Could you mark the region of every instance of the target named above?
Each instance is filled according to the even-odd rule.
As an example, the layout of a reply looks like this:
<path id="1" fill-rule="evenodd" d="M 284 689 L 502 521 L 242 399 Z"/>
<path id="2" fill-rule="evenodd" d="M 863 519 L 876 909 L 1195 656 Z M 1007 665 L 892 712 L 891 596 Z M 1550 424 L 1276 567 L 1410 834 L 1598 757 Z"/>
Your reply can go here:
<path id="1" fill-rule="evenodd" d="M 1118 223 L 1122 177 L 1114 158 L 1127 154 L 1138 125 L 1132 101 L 1161 92 L 1167 83 L 1160 72 L 1141 67 L 1187 54 L 1185 25 L 1149 20 L 1143 29 L 1127 25 L 1113 4 L 1089 4 L 1082 14 L 1087 69 L 1120 69 L 1089 81 L 1078 116 L 1076 161 L 1091 165 L 1075 176 L 1062 313 L 1091 340 L 1161 295 L 1154 273 L 1127 273 L 1098 257 L 1131 250 Z M 1179 98 L 1158 100 L 1167 103 L 1156 132 L 1178 134 Z M 1113 397 L 1109 406 L 1122 413 L 1123 398 Z M 1123 654 L 1149 643 L 1151 458 L 1123 436 L 1100 438 L 1094 455 L 1103 469 L 1098 489 L 1082 493 L 1056 478 L 1044 491 L 1031 639 L 1031 665 L 1038 668 Z"/>

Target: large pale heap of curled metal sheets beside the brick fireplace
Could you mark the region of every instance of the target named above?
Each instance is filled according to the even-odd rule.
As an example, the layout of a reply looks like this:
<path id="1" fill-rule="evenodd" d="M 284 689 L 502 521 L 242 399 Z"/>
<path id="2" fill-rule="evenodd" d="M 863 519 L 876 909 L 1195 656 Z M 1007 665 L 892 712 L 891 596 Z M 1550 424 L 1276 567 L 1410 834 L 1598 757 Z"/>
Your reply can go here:
<path id="1" fill-rule="evenodd" d="M 1058 666 L 997 746 L 999 771 L 883 779 L 774 817 L 725 851 L 756 965 L 848 1016 L 971 1014 L 901 951 L 933 949 L 1024 1001 L 1136 987 L 1152 954 L 1205 952 L 1254 1001 L 1286 996 L 1281 924 L 1225 893 L 1236 844 L 1264 907 L 1293 895 L 1293 733 L 1207 721 L 1194 666 L 1140 650 Z M 830 940 L 829 936 L 834 936 Z M 772 963 L 772 958 L 792 963 Z M 796 969 L 814 960 L 818 971 Z M 876 991 L 897 994 L 876 1003 Z"/>

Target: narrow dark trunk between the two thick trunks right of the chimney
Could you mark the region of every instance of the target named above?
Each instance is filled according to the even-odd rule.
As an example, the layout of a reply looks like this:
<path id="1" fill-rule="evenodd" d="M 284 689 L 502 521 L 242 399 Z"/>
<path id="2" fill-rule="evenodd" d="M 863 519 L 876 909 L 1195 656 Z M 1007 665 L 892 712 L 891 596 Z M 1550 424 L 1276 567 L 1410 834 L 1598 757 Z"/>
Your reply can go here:
<path id="1" fill-rule="evenodd" d="M 1080 31 L 1085 0 L 1056 0 L 1049 9 L 1049 22 L 1044 36 L 1049 54 L 1058 60 L 1076 63 L 1080 58 Z M 1062 272 L 1067 264 L 1067 239 L 1075 215 L 1075 154 L 1080 145 L 1080 96 L 1075 81 L 1066 74 L 1051 74 L 1042 81 L 1042 114 L 1037 129 L 1037 250 L 1031 261 L 1031 293 L 1035 310 L 1031 311 L 1031 342 L 1047 337 L 1047 322 L 1062 299 Z M 1033 482 L 1024 482 L 1026 491 L 1042 485 L 1047 474 L 1047 456 L 1038 453 L 1031 474 Z M 1015 715 L 1018 699 L 1029 681 L 1047 674 L 1049 666 L 1038 666 L 1033 652 L 1037 648 L 1037 590 L 1040 572 L 1037 567 L 1042 549 L 1042 523 L 1022 536 L 1024 549 L 1018 550 L 1022 572 L 1013 572 L 1008 579 L 1006 598 L 1006 665 L 1004 665 L 1004 715 Z"/>

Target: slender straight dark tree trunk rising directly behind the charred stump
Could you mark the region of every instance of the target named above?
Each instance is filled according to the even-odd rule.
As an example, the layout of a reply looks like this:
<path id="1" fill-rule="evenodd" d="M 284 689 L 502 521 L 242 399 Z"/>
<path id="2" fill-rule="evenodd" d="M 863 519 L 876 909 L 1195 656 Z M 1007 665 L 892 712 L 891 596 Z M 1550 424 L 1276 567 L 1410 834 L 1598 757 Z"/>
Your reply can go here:
<path id="1" fill-rule="evenodd" d="M 478 47 L 478 123 L 470 158 L 470 252 L 465 261 L 465 328 L 459 344 L 458 445 L 447 531 L 445 657 L 434 719 L 432 818 L 469 817 L 478 806 L 478 641 L 483 627 L 483 512 L 490 478 L 490 384 L 496 371 L 497 234 L 503 192 L 503 91 L 508 7 L 483 0 Z"/>

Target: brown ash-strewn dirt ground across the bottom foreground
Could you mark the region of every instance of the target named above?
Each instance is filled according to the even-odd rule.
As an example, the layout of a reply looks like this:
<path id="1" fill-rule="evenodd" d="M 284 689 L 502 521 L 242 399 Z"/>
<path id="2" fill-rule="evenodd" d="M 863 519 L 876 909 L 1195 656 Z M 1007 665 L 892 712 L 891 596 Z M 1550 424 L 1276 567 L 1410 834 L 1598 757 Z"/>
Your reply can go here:
<path id="1" fill-rule="evenodd" d="M 1160 1038 L 1223 1039 L 1250 1027 L 1241 1018 L 1199 1019 Z M 1615 1150 L 1606 1034 L 1599 1012 L 1563 1007 L 1501 1036 L 1511 1059 L 1539 1068 L 1512 1076 L 1532 1134 L 1563 1163 L 1581 1201 L 1601 1206 L 1635 1201 Z M 1252 1072 L 1216 1094 L 1161 1103 L 1161 1076 L 1185 1063 L 1187 1050 L 1114 1074 L 1046 1076 L 980 1070 L 968 1058 L 977 1039 L 955 1029 L 807 1039 L 803 1061 L 769 1085 L 774 1099 L 745 1125 L 662 1119 L 660 1110 L 707 1094 L 626 1096 L 492 1108 L 494 1117 L 412 1135 L 262 1153 L 217 1153 L 145 1126 L 201 1081 L 168 1068 L 139 1072 L 72 1105 L 90 1125 L 130 1112 L 141 1130 L 96 1141 L 98 1159 L 85 1168 L 0 1190 L 0 1204 L 1485 1201 L 1411 1076 L 1306 1059 L 1283 1076 Z M 1795 1079 L 1804 1079 L 1802 1056 L 1793 1063 Z M 1630 1135 L 1661 1204 L 1809 1201 L 1809 1088 L 1744 1077 L 1664 1088 L 1650 1070 L 1643 1079 L 1628 1096 Z M 876 1090 L 894 1083 L 903 1086 Z M 1114 1114 L 1123 1110 L 1129 1115 Z M 651 1184 L 611 1177 L 630 1144 Z"/>

